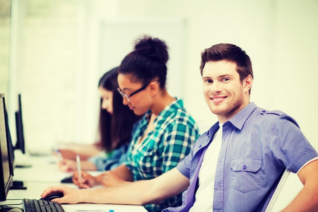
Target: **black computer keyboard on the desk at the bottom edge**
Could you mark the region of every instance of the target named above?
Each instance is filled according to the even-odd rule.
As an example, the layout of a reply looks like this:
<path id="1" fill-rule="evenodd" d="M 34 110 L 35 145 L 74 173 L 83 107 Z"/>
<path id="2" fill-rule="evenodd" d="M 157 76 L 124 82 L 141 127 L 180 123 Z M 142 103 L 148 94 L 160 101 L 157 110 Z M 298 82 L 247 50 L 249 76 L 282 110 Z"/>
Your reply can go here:
<path id="1" fill-rule="evenodd" d="M 62 205 L 42 199 L 23 199 L 24 212 L 65 212 Z"/>

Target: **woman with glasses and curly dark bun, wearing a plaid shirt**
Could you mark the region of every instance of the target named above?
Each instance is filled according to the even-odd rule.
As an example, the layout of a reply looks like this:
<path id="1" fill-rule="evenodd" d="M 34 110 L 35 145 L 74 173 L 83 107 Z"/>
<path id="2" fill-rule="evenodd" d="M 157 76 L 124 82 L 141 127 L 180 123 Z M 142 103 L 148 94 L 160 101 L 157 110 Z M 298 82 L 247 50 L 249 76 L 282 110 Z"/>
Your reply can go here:
<path id="1" fill-rule="evenodd" d="M 78 187 L 115 187 L 151 179 L 174 168 L 189 153 L 199 129 L 182 100 L 167 92 L 168 58 L 166 43 L 147 36 L 137 40 L 135 49 L 123 58 L 118 69 L 118 94 L 135 114 L 144 115 L 136 125 L 126 162 L 95 177 L 82 172 L 81 181 L 75 173 Z M 161 211 L 179 204 L 181 194 L 145 208 Z"/>

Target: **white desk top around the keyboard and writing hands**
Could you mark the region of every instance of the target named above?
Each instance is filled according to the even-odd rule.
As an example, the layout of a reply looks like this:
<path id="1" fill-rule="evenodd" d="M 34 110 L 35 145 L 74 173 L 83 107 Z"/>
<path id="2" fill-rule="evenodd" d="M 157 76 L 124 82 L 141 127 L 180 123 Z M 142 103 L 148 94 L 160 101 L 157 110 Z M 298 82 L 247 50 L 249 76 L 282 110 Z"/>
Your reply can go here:
<path id="1" fill-rule="evenodd" d="M 24 156 L 23 156 L 24 157 Z M 40 199 L 41 193 L 53 185 L 62 185 L 60 180 L 69 176 L 68 173 L 62 173 L 58 170 L 54 162 L 54 157 L 28 157 L 24 159 L 26 163 L 32 164 L 29 168 L 15 168 L 14 180 L 24 182 L 26 190 L 10 190 L 7 201 L 0 201 L 0 204 L 19 204 L 21 199 Z M 99 172 L 92 172 L 98 174 Z M 77 188 L 74 184 L 63 184 L 72 188 Z M 14 200 L 10 200 L 14 199 Z M 21 205 L 13 205 L 22 207 Z M 116 205 L 116 204 L 63 204 L 66 212 L 76 210 L 102 210 L 103 212 L 113 209 L 115 212 L 147 212 L 141 205 Z"/>

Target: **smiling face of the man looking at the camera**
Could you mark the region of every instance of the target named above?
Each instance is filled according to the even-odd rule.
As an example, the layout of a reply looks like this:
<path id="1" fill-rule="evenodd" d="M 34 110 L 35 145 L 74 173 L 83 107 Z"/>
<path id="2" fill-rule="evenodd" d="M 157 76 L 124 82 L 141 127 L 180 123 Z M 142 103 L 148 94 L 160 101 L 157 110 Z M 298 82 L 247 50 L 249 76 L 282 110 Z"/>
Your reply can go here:
<path id="1" fill-rule="evenodd" d="M 212 113 L 225 123 L 249 103 L 252 79 L 240 81 L 236 64 L 227 60 L 209 61 L 202 72 L 203 94 Z"/>

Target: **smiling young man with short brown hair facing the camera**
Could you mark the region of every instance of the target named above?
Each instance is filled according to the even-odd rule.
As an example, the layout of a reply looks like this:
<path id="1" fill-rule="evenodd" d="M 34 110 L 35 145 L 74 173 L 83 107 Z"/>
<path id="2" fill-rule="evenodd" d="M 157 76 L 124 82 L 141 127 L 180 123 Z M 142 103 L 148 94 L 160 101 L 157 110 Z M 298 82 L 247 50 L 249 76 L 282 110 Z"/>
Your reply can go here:
<path id="1" fill-rule="evenodd" d="M 116 188 L 49 187 L 42 197 L 60 191 L 59 203 L 145 204 L 187 189 L 181 206 L 163 211 L 265 211 L 287 168 L 304 187 L 283 211 L 317 211 L 318 154 L 292 117 L 249 102 L 249 56 L 232 44 L 214 45 L 201 56 L 205 100 L 218 123 L 176 168 Z"/>

